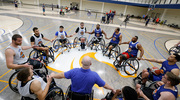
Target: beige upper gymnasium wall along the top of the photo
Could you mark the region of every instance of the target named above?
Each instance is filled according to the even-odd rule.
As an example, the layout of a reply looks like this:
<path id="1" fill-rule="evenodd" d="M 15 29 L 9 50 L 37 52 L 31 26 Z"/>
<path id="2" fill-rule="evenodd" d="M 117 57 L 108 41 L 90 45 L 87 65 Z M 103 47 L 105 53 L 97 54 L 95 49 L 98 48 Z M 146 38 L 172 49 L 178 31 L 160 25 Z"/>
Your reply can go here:
<path id="1" fill-rule="evenodd" d="M 21 0 L 23 3 L 27 4 L 37 4 L 37 0 Z M 70 6 L 71 2 L 77 2 L 80 3 L 80 0 L 60 0 L 61 6 Z M 102 2 L 96 2 L 96 1 L 88 1 L 88 0 L 82 0 L 82 9 L 92 9 L 96 10 L 98 12 L 102 11 Z M 39 0 L 39 3 L 45 3 L 45 4 L 58 4 L 58 0 Z M 125 5 L 121 4 L 113 4 L 113 3 L 104 3 L 104 12 L 109 12 L 109 10 L 116 10 L 117 14 L 124 13 Z M 160 13 L 160 18 L 163 14 L 164 9 L 163 8 L 155 8 L 155 10 L 150 11 L 149 14 L 152 12 Z M 169 24 L 179 24 L 180 25 L 180 9 L 167 9 L 167 12 L 162 20 L 167 20 L 167 23 Z M 131 14 L 135 16 L 142 16 L 147 13 L 146 7 L 138 7 L 138 6 L 127 6 L 126 14 Z"/>

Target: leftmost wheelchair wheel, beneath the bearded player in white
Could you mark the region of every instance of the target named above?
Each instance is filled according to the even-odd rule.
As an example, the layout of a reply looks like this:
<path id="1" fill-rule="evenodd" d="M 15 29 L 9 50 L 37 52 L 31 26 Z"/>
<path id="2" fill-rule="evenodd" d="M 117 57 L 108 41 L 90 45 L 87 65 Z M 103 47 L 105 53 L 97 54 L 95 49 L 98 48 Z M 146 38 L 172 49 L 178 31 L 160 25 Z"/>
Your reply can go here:
<path id="1" fill-rule="evenodd" d="M 9 87 L 11 90 L 13 90 L 16 93 L 19 93 L 17 89 L 17 85 L 18 85 L 17 73 L 18 72 L 19 71 L 14 72 L 9 78 Z"/>

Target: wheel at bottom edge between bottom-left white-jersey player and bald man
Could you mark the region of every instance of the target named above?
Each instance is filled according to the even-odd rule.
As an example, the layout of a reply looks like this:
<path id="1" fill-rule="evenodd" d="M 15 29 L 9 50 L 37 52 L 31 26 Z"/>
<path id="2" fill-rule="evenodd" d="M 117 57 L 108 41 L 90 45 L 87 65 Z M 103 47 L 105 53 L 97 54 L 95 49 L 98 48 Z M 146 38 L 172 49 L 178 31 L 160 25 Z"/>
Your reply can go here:
<path id="1" fill-rule="evenodd" d="M 45 100 L 64 100 L 63 90 L 59 87 L 50 89 Z"/>

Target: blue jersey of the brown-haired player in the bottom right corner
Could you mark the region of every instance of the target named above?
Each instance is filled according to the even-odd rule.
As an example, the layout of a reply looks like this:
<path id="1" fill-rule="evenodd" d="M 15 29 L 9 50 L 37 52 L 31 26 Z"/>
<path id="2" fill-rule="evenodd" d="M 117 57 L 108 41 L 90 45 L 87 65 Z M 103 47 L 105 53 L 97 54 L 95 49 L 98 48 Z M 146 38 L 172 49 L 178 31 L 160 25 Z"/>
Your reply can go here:
<path id="1" fill-rule="evenodd" d="M 161 92 L 170 92 L 170 93 L 172 93 L 172 94 L 175 96 L 175 98 L 177 99 L 178 89 L 177 89 L 176 86 L 175 86 L 175 90 L 174 90 L 174 91 L 171 90 L 171 89 L 165 89 L 165 88 L 164 88 L 164 85 L 160 86 L 158 89 L 154 90 L 154 92 L 153 92 L 153 99 L 154 99 L 154 100 L 158 100 L 158 99 L 160 98 L 160 96 L 161 96 L 161 94 L 160 94 Z"/>

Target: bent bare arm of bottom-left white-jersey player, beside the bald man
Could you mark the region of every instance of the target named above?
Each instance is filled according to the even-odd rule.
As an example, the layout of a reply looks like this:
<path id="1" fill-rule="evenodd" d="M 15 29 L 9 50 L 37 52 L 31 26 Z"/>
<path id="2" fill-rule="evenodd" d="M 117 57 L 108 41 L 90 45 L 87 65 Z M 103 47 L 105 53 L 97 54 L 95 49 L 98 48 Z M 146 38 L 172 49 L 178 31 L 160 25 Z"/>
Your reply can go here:
<path id="1" fill-rule="evenodd" d="M 51 77 L 50 77 L 51 78 Z M 49 90 L 49 86 L 51 84 L 52 78 L 47 78 L 47 84 L 44 90 L 41 88 L 41 83 L 38 80 L 34 80 L 31 83 L 30 90 L 37 95 L 38 100 L 45 100 L 46 95 Z"/>

